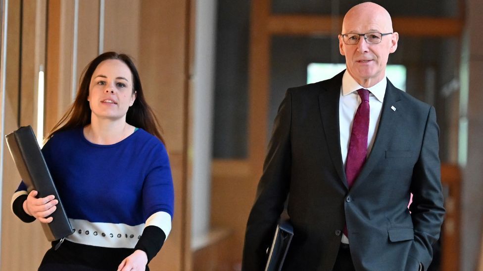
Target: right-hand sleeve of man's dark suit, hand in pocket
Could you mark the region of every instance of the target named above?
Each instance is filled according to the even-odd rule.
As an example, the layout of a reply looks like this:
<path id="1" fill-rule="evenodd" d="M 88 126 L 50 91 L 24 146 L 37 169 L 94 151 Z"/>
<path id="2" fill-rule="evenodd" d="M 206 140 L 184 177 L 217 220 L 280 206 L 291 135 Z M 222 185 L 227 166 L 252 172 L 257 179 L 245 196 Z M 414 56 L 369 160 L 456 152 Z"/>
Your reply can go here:
<path id="1" fill-rule="evenodd" d="M 431 107 L 420 156 L 413 171 L 411 192 L 414 195 L 409 208 L 414 227 L 414 242 L 408 262 L 420 262 L 425 270 L 433 258 L 432 245 L 439 238 L 444 216 L 438 135 L 436 113 Z"/>

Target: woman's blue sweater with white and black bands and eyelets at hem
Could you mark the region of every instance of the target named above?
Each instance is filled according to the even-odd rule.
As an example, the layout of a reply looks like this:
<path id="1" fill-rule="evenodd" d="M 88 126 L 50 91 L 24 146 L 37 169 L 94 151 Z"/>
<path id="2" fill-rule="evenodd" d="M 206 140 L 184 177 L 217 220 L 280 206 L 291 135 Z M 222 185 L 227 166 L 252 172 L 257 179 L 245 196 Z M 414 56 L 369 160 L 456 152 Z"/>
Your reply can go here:
<path id="1" fill-rule="evenodd" d="M 55 133 L 42 153 L 75 229 L 66 240 L 142 249 L 149 261 L 154 257 L 171 231 L 174 205 L 168 155 L 156 137 L 137 129 L 116 144 L 97 145 L 78 128 Z M 30 222 L 34 219 L 22 208 L 26 189 L 21 182 L 12 208 Z M 156 233 L 159 229 L 161 234 Z M 152 240 L 153 236 L 163 239 Z"/>

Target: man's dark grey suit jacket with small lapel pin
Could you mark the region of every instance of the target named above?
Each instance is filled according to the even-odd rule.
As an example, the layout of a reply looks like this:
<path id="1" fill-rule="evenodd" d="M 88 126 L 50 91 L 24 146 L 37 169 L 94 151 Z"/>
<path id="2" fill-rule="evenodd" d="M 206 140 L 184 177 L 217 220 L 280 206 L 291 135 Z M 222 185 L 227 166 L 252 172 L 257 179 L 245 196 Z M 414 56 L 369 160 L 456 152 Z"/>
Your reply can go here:
<path id="1" fill-rule="evenodd" d="M 264 270 L 287 197 L 294 236 L 283 270 L 332 271 L 345 223 L 356 271 L 417 271 L 431 263 L 444 215 L 435 109 L 387 80 L 375 143 L 348 189 L 339 140 L 342 75 L 287 91 L 247 223 L 243 271 Z"/>

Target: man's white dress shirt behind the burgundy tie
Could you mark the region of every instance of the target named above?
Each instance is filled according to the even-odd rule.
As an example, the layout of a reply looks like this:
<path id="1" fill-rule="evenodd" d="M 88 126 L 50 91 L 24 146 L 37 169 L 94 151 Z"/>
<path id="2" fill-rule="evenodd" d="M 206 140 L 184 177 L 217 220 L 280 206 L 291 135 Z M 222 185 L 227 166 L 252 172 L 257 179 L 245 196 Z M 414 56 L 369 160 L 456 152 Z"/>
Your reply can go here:
<path id="1" fill-rule="evenodd" d="M 384 77 L 380 82 L 372 87 L 365 88 L 352 78 L 347 70 L 342 77 L 342 86 L 340 87 L 339 98 L 339 127 L 340 127 L 340 152 L 342 154 L 342 162 L 345 168 L 347 160 L 347 149 L 349 148 L 350 131 L 352 122 L 361 98 L 357 93 L 360 88 L 365 88 L 369 93 L 369 133 L 367 135 L 367 155 L 371 152 L 374 144 L 375 135 L 381 118 L 381 109 L 383 107 L 384 94 L 386 94 L 387 79 Z M 342 243 L 349 243 L 347 236 L 342 234 Z"/>

